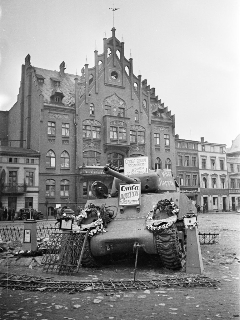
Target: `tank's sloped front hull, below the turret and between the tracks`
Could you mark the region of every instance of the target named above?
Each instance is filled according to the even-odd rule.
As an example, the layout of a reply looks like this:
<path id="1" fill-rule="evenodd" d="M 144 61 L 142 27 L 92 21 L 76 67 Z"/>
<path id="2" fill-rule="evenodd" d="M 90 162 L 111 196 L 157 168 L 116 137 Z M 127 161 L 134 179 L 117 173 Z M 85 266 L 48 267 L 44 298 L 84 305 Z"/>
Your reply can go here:
<path id="1" fill-rule="evenodd" d="M 178 206 L 180 212 L 177 222 L 182 220 L 182 216 L 190 209 L 196 213 L 195 206 L 186 195 L 180 192 L 143 194 L 140 211 L 136 206 L 120 208 L 118 197 L 89 200 L 86 205 L 90 203 L 99 206 L 104 204 L 114 212 L 106 232 L 90 238 L 92 255 L 100 257 L 110 253 L 131 253 L 136 244 L 143 245 L 142 249 L 149 254 L 159 253 L 154 232 L 150 232 L 146 228 L 146 216 L 159 200 L 164 199 L 171 199 Z M 163 212 L 158 217 L 158 219 L 166 218 L 169 218 L 169 215 Z"/>

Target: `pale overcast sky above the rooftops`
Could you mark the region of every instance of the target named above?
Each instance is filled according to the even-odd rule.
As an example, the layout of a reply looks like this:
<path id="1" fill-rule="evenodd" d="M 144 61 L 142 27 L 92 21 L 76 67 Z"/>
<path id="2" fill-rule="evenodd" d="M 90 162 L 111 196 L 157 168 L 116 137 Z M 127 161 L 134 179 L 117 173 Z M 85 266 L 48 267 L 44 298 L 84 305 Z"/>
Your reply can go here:
<path id="1" fill-rule="evenodd" d="M 239 0 L 0 0 L 0 10 L 0 110 L 17 101 L 28 53 L 34 67 L 64 60 L 80 75 L 114 26 L 180 139 L 231 147 L 240 133 Z"/>

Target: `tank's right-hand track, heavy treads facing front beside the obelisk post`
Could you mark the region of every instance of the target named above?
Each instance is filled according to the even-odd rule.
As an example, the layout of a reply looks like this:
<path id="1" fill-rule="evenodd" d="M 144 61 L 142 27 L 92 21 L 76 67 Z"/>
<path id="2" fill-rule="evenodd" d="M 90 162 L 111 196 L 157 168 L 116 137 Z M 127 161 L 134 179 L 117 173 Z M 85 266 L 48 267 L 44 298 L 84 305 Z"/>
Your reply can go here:
<path id="1" fill-rule="evenodd" d="M 173 223 L 167 229 L 154 231 L 154 244 L 165 268 L 180 269 L 186 262 L 186 252 L 178 238 L 180 224 Z"/>

